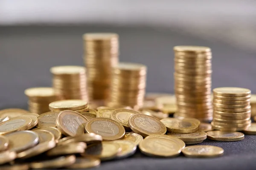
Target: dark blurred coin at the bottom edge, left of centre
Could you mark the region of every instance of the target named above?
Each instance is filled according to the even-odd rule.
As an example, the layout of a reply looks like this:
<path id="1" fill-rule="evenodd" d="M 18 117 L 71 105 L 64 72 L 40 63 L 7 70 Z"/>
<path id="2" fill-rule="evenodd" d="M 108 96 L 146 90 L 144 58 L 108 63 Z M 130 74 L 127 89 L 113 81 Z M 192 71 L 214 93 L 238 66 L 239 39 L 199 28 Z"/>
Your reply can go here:
<path id="1" fill-rule="evenodd" d="M 76 162 L 66 168 L 68 169 L 84 169 L 97 167 L 100 165 L 100 159 L 93 157 L 76 157 Z"/>

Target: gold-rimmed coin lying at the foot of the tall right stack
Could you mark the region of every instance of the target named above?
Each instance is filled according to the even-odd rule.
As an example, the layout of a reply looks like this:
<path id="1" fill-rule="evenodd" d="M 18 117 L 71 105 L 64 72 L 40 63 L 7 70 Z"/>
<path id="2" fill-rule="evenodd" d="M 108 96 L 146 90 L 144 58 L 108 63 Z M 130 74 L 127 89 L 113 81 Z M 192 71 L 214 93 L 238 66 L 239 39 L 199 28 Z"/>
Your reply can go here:
<path id="1" fill-rule="evenodd" d="M 186 119 L 165 118 L 160 120 L 170 132 L 192 133 L 198 130 L 198 124 Z"/>

